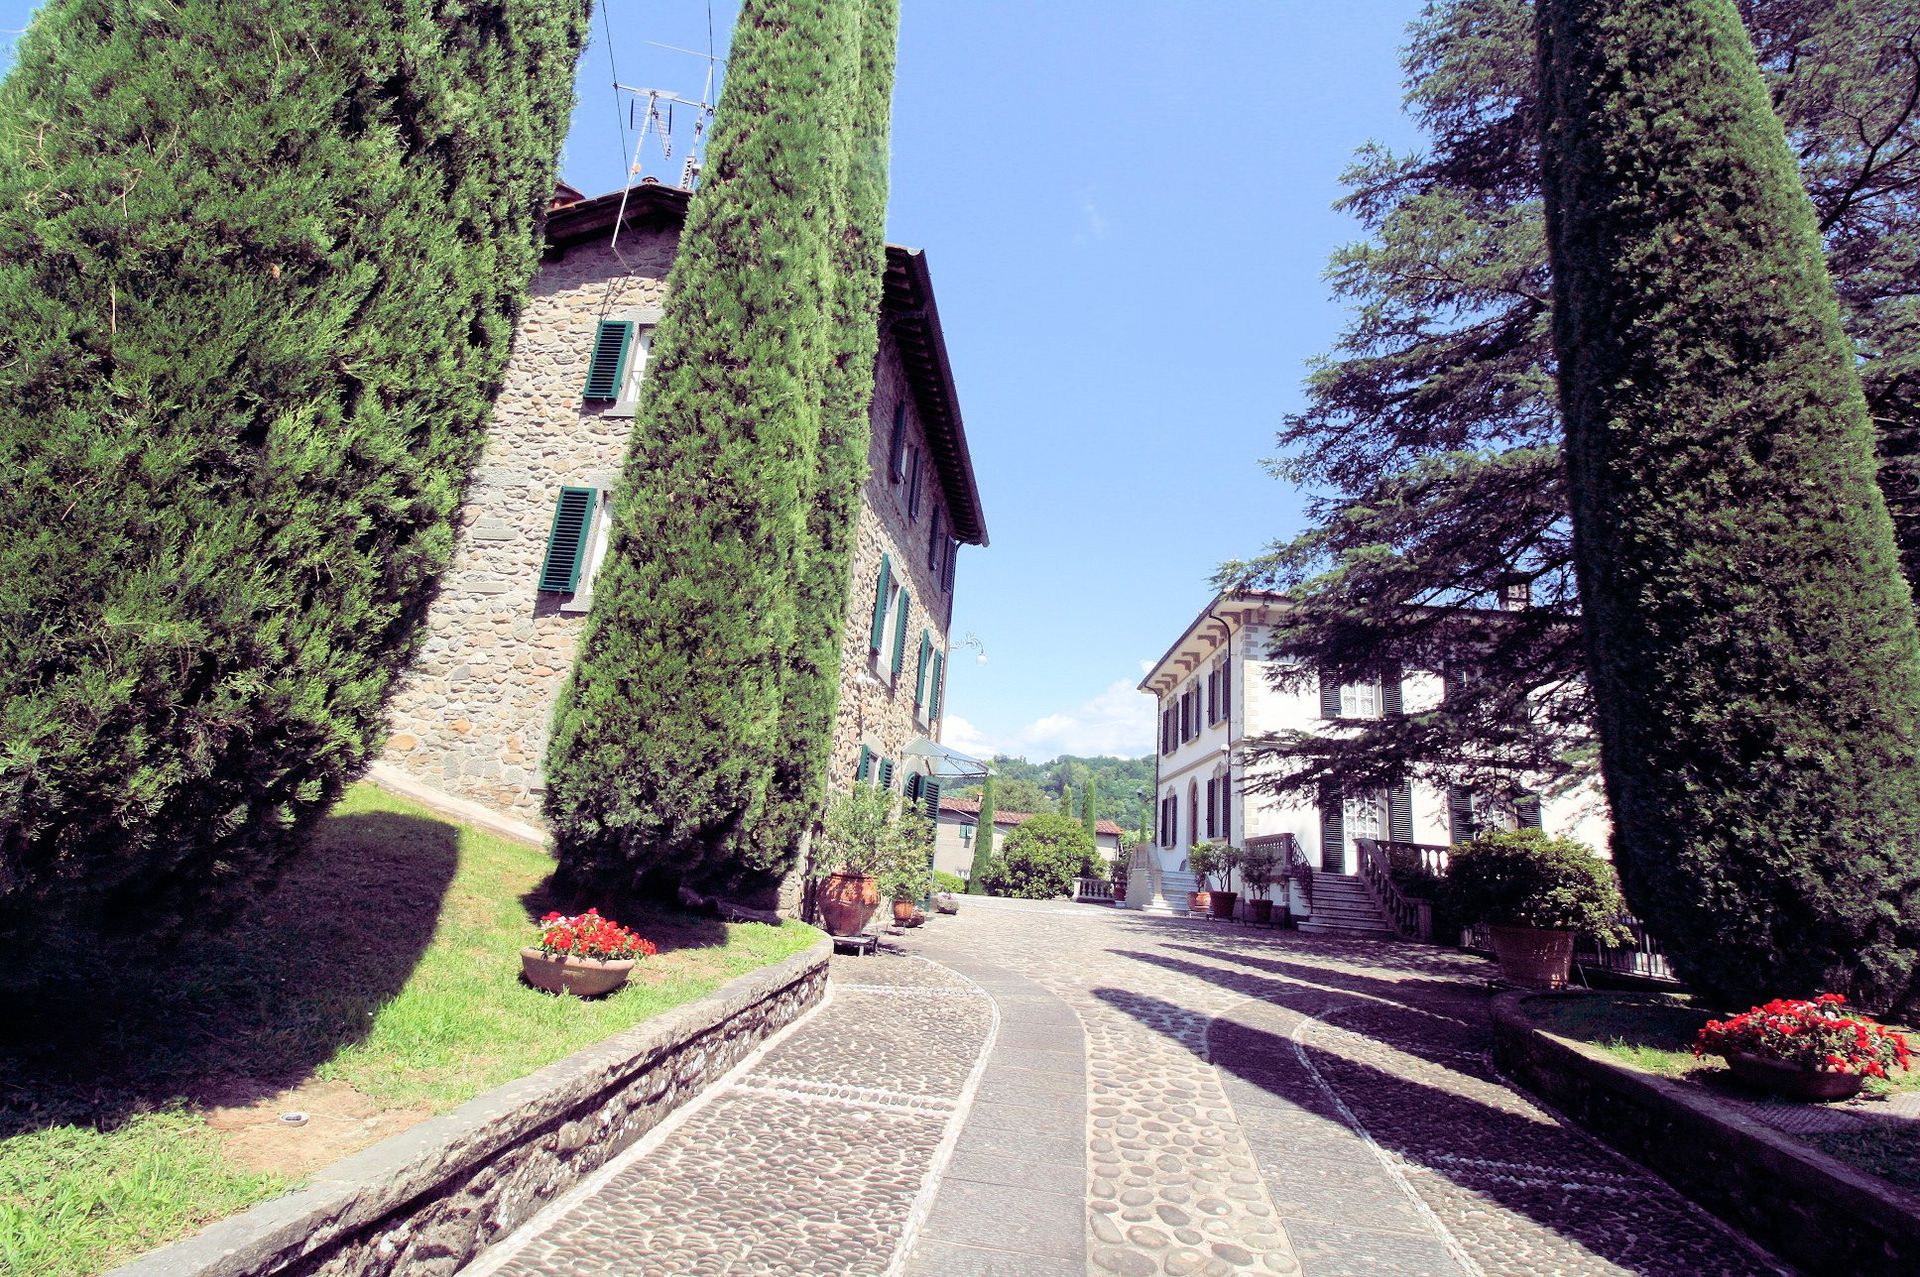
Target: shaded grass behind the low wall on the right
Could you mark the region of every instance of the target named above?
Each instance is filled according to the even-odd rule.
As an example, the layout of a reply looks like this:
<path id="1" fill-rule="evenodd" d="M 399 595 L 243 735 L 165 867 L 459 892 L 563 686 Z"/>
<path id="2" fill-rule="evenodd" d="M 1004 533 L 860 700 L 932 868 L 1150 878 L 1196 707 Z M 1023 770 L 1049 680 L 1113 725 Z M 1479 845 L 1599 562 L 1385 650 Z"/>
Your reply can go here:
<path id="1" fill-rule="evenodd" d="M 1728 1077 L 1726 1066 L 1716 1056 L 1693 1056 L 1693 1035 L 1707 1020 L 1724 1018 L 1724 1012 L 1699 1010 L 1686 997 L 1617 993 L 1584 999 L 1540 999 L 1528 1002 L 1526 1010 L 1542 1029 L 1599 1047 L 1617 1060 L 1649 1073 L 1715 1085 Z M 1901 1031 L 1920 1043 L 1912 1029 L 1901 1025 Z M 1907 1091 L 1920 1091 L 1920 1072 L 1893 1070 L 1885 1081 L 1868 1077 L 1862 1091 L 1868 1102 L 1859 1108 L 1870 1114 L 1872 1096 Z M 1870 1175 L 1920 1193 L 1920 1121 L 1885 1118 L 1868 1129 L 1816 1131 L 1793 1139 Z"/>

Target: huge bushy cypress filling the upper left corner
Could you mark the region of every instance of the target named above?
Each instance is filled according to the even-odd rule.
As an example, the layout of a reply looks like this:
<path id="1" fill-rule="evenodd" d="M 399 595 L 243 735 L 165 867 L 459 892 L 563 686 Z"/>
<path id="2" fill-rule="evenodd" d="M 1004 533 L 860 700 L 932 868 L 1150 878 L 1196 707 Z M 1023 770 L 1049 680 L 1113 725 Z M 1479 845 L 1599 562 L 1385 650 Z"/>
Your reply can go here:
<path id="1" fill-rule="evenodd" d="M 376 749 L 586 19 L 33 19 L 0 83 L 0 922 L 213 914 Z"/>

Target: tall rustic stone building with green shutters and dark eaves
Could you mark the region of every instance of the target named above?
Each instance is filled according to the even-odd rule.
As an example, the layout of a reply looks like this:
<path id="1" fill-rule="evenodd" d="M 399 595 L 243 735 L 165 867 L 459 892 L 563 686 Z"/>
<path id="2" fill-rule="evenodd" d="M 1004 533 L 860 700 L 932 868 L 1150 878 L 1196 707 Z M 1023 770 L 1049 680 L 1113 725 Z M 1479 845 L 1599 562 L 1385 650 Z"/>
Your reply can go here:
<path id="1" fill-rule="evenodd" d="M 541 824 L 553 701 L 607 551 L 687 200 L 659 184 L 559 190 L 453 563 L 392 701 L 388 774 Z M 918 250 L 887 248 L 872 422 L 831 778 L 937 807 L 924 778 L 956 770 L 937 747 L 956 561 L 987 526 Z"/>

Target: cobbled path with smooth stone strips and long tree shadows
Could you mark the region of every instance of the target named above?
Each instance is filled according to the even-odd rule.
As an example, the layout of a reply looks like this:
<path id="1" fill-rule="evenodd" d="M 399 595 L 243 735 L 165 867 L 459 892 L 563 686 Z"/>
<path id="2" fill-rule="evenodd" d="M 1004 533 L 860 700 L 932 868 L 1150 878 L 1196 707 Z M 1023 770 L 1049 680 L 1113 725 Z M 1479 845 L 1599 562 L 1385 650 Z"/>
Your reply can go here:
<path id="1" fill-rule="evenodd" d="M 472 1271 L 1782 1271 L 1505 1085 L 1476 958 L 973 899 L 889 943 Z"/>

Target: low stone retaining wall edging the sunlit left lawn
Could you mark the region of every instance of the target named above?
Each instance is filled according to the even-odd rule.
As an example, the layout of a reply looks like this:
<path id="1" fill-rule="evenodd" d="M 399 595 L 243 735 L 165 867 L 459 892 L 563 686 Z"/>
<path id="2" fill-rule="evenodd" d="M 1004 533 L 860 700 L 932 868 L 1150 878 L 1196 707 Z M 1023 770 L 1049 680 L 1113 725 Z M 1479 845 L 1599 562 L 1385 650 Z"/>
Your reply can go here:
<path id="1" fill-rule="evenodd" d="M 816 1004 L 829 954 L 822 935 L 111 1277 L 453 1273 Z"/>

